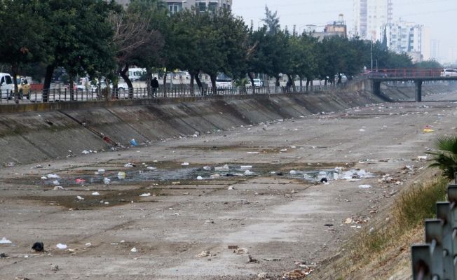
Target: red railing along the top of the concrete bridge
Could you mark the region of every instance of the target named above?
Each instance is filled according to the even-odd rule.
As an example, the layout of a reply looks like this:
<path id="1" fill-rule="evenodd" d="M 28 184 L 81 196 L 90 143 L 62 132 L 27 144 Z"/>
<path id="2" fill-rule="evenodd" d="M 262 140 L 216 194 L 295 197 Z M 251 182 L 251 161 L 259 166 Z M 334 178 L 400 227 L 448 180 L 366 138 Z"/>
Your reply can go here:
<path id="1" fill-rule="evenodd" d="M 418 69 L 378 69 L 373 72 L 367 71 L 365 76 L 370 78 L 439 78 L 445 77 L 442 75 L 442 68 Z"/>

